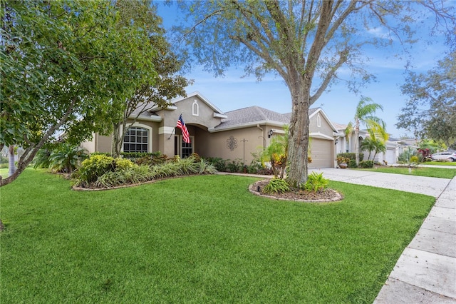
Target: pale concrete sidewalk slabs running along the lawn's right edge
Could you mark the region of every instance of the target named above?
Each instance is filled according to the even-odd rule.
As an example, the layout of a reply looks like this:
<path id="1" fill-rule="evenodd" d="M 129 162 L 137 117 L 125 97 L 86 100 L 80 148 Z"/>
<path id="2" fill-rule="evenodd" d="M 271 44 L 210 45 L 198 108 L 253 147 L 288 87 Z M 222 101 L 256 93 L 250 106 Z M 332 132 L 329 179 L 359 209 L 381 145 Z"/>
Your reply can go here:
<path id="1" fill-rule="evenodd" d="M 456 178 L 437 198 L 374 303 L 456 303 Z"/>

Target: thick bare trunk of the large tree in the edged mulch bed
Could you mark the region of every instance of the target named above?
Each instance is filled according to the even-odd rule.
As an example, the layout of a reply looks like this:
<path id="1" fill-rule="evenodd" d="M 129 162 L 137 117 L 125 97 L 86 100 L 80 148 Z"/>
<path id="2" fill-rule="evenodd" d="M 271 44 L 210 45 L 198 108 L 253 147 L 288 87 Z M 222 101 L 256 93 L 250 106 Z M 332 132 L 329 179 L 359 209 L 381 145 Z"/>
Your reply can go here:
<path id="1" fill-rule="evenodd" d="M 306 83 L 303 78 L 289 86 L 293 107 L 291 109 L 288 150 L 288 163 L 291 166 L 289 166 L 287 181 L 293 187 L 304 185 L 307 181 L 310 81 Z"/>

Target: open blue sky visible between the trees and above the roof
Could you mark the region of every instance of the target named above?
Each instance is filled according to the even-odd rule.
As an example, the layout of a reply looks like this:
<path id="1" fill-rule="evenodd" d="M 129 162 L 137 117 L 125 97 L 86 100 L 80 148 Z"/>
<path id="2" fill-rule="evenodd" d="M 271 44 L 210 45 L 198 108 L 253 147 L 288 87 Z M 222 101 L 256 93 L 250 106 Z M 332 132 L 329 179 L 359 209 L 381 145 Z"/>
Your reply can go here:
<path id="1" fill-rule="evenodd" d="M 174 6 L 158 6 L 158 14 L 162 16 L 163 26 L 169 30 L 179 23 L 179 12 Z M 373 33 L 378 34 L 378 33 Z M 426 44 L 424 41 L 413 46 L 413 71 L 425 72 L 432 69 L 437 60 L 442 59 L 442 44 Z M 368 54 L 371 61 L 366 69 L 375 75 L 376 81 L 361 88 L 361 94 L 373 99 L 383 106 L 377 116 L 385 121 L 391 136 L 413 136 L 413 133 L 395 127 L 400 109 L 405 106 L 407 96 L 400 92 L 400 85 L 405 80 L 405 61 L 393 57 L 395 49 L 373 50 Z M 343 76 L 344 71 L 341 71 Z M 254 76 L 244 75 L 243 67 L 225 71 L 224 77 L 214 77 L 198 66 L 185 76 L 194 80 L 186 88 L 187 93 L 199 91 L 202 96 L 214 103 L 220 110 L 227 112 L 247 106 L 261 106 L 279 113 L 291 112 L 291 97 L 284 81 L 273 75 L 266 76 L 261 82 Z M 312 107 L 320 106 L 331 121 L 346 124 L 353 120 L 354 112 L 361 96 L 351 93 L 344 83 L 333 85 L 318 98 Z"/>

